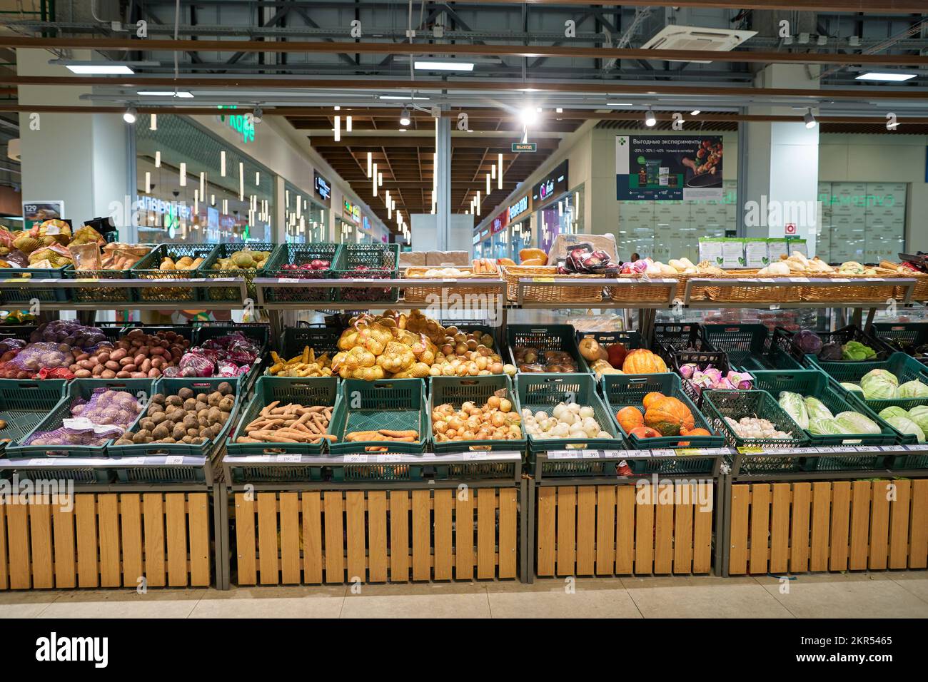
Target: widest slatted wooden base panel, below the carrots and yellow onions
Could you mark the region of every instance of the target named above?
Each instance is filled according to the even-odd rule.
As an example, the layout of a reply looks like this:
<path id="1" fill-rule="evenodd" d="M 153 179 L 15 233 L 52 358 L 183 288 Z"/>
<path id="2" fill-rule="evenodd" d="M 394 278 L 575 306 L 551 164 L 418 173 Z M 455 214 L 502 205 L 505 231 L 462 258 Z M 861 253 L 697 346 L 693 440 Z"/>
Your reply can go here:
<path id="1" fill-rule="evenodd" d="M 236 493 L 238 585 L 515 578 L 518 489 Z"/>

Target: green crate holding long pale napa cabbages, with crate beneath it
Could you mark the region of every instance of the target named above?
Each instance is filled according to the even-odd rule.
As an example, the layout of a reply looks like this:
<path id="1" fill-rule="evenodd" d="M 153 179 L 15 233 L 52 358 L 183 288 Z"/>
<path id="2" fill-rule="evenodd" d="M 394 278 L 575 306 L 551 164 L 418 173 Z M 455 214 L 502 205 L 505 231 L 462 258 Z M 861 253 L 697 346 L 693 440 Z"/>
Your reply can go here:
<path id="1" fill-rule="evenodd" d="M 896 443 L 896 431 L 889 424 L 879 418 L 870 407 L 864 405 L 853 393 L 844 391 L 827 374 L 818 369 L 796 370 L 767 370 L 754 372 L 754 388 L 758 391 L 767 391 L 775 399 L 780 398 L 780 392 L 788 391 L 799 393 L 803 397 L 818 398 L 823 405 L 831 410 L 837 417 L 841 412 L 859 412 L 864 417 L 872 419 L 879 427 L 880 433 L 854 433 L 815 435 L 806 430 L 809 444 L 813 447 L 827 447 L 840 445 L 892 445 Z M 875 469 L 883 457 L 872 455 L 862 457 L 816 457 L 810 464 L 817 465 L 815 470 L 839 469 Z"/>

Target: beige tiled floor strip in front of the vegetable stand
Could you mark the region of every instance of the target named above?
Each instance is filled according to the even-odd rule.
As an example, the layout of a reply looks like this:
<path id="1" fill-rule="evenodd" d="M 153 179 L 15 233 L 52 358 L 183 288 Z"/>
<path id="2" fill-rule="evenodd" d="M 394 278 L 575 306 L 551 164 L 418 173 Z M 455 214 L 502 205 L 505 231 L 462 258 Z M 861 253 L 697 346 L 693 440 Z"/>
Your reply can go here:
<path id="1" fill-rule="evenodd" d="M 928 617 L 928 572 L 0 593 L 0 618 Z"/>

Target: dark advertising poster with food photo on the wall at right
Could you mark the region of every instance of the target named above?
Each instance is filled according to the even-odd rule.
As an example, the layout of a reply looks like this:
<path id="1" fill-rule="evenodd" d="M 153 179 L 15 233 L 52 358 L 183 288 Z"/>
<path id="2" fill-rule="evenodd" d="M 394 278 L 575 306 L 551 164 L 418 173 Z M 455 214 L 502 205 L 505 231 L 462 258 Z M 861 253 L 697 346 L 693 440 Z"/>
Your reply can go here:
<path id="1" fill-rule="evenodd" d="M 616 199 L 722 199 L 722 152 L 721 135 L 616 135 Z"/>

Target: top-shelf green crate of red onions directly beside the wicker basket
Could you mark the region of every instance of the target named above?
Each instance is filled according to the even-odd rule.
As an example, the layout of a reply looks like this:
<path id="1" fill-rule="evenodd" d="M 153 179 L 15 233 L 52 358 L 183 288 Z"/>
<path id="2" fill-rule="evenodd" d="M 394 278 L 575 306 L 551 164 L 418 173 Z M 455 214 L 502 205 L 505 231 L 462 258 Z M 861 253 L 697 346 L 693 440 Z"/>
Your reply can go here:
<path id="1" fill-rule="evenodd" d="M 342 244 L 335 255 L 332 277 L 338 279 L 396 279 L 400 260 L 399 244 Z M 364 266 L 367 270 L 358 271 Z M 336 288 L 339 302 L 387 302 L 399 300 L 398 287 Z"/>

